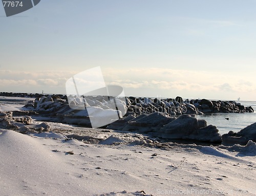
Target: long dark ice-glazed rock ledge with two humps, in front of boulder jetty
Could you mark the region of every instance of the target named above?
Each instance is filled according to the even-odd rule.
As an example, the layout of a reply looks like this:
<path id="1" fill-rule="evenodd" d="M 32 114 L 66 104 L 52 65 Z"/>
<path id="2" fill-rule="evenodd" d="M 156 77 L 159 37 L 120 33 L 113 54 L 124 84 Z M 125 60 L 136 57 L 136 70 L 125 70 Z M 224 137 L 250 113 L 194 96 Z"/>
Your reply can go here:
<path id="1" fill-rule="evenodd" d="M 124 124 L 124 125 L 123 125 Z M 165 139 L 186 139 L 221 143 L 222 137 L 216 126 L 190 115 L 179 118 L 164 113 L 144 114 L 130 121 L 120 119 L 106 128 L 151 134 Z"/>

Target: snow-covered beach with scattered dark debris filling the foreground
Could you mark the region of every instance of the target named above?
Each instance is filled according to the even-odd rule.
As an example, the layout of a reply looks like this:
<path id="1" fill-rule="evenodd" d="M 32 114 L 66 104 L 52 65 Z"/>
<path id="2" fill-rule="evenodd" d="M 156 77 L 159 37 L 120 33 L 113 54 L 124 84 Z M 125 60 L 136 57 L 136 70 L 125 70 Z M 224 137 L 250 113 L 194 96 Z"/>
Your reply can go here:
<path id="1" fill-rule="evenodd" d="M 23 110 L 30 100 L 15 99 L 24 102 L 2 100 L 1 110 Z M 50 132 L 1 128 L 1 195 L 256 195 L 254 142 L 178 144 L 140 133 L 26 120 L 29 125 L 24 119 L 15 125 L 46 123 Z"/>

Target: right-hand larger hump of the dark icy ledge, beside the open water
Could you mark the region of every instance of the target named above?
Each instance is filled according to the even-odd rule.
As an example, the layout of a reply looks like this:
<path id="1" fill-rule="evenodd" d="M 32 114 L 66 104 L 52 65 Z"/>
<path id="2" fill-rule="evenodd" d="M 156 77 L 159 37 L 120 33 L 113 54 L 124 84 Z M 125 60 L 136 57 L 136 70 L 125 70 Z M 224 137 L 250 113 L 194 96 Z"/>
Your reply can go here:
<path id="1" fill-rule="evenodd" d="M 216 126 L 207 126 L 205 120 L 197 119 L 190 115 L 181 115 L 159 130 L 162 138 L 221 142 L 221 135 L 218 132 L 219 130 Z"/>

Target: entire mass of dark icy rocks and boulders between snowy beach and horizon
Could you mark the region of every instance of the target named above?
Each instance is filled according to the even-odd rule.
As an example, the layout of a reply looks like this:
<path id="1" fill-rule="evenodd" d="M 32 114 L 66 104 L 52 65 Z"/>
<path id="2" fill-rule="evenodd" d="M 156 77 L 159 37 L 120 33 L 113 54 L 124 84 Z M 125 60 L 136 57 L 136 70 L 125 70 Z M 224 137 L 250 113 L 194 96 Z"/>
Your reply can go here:
<path id="1" fill-rule="evenodd" d="M 84 102 L 79 102 L 81 101 L 81 98 L 71 98 L 68 97 L 67 99 L 61 99 L 61 97 L 57 95 L 36 98 L 34 101 L 30 100 L 28 104 L 26 104 L 22 108 L 21 111 L 14 111 L 11 116 L 15 117 L 22 115 L 32 115 L 34 117 L 37 116 L 37 119 L 41 116 L 44 117 L 45 121 L 49 122 L 61 122 L 76 124 L 84 127 L 94 127 L 92 126 L 92 117 L 88 113 L 88 108 L 97 111 L 99 108 L 98 103 L 102 105 L 102 103 L 105 102 L 107 104 L 104 105 L 104 107 L 107 108 L 107 110 L 105 111 L 108 112 L 107 114 L 105 114 L 106 116 L 95 116 L 96 119 L 98 118 L 97 123 L 98 121 L 103 120 L 103 123 L 105 123 L 105 125 L 102 124 L 103 126 L 101 125 L 97 127 L 120 131 L 137 132 L 140 134 L 152 135 L 154 137 L 162 138 L 163 140 L 167 141 L 183 141 L 187 143 L 191 143 L 194 141 L 195 143 L 209 143 L 214 145 L 218 145 L 221 143 L 225 145 L 233 145 L 236 143 L 246 145 L 249 140 L 256 140 L 256 138 L 254 137 L 247 137 L 248 135 L 252 135 L 251 133 L 241 135 L 240 132 L 229 132 L 227 134 L 221 135 L 219 134 L 218 127 L 211 124 L 207 125 L 207 122 L 205 120 L 195 118 L 196 115 L 203 114 L 202 112 L 200 112 L 199 108 L 203 108 L 204 111 L 208 112 L 210 108 L 211 110 L 216 111 L 216 107 L 214 107 L 215 102 L 211 102 L 206 99 L 183 101 L 181 97 L 176 97 L 175 100 L 159 100 L 157 98 L 153 100 L 150 98 L 138 99 L 135 97 L 124 97 L 123 100 L 113 98 L 118 102 L 114 101 L 114 106 L 110 106 L 109 103 L 111 103 L 112 99 L 106 96 L 83 97 L 82 99 L 84 100 Z M 104 100 L 105 98 L 110 99 L 110 101 L 106 102 Z M 100 100 L 100 102 L 98 100 Z M 14 102 L 15 98 L 13 100 L 11 99 L 11 101 Z M 84 107 L 83 105 L 86 107 Z M 227 110 L 231 110 L 231 108 L 233 107 L 234 109 L 236 109 L 236 113 L 239 113 L 240 109 L 246 110 L 246 108 L 249 108 L 241 104 L 234 104 L 233 102 L 223 102 L 220 108 L 222 107 L 226 108 Z M 120 116 L 123 117 L 119 117 L 119 119 L 111 122 L 111 119 L 116 118 L 116 112 L 120 112 L 117 111 L 117 108 L 118 110 L 121 108 L 122 115 Z M 173 108 L 175 108 L 175 110 L 177 110 L 178 112 L 172 110 Z M 223 109 L 221 109 L 219 113 L 222 110 Z M 110 120 L 108 120 L 108 115 L 110 114 L 109 112 L 115 115 L 111 117 Z M 104 120 L 104 118 L 107 119 Z M 20 128 L 21 127 L 19 127 L 19 129 Z M 21 129 L 23 133 L 26 132 L 26 127 L 23 127 Z M 243 137 L 241 138 L 241 136 Z M 232 143 L 231 141 L 234 142 Z"/>

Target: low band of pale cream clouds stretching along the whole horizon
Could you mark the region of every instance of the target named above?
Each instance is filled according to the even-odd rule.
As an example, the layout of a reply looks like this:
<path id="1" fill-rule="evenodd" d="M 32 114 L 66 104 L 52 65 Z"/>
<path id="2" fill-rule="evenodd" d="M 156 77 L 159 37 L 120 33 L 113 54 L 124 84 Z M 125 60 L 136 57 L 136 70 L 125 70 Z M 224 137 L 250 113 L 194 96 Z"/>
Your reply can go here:
<path id="1" fill-rule="evenodd" d="M 256 97 L 253 77 L 226 72 L 174 70 L 164 68 L 102 69 L 106 85 L 119 85 L 127 96 L 158 96 L 209 99 Z M 66 93 L 70 72 L 0 71 L 1 91 Z M 90 85 L 90 81 L 87 81 Z"/>

